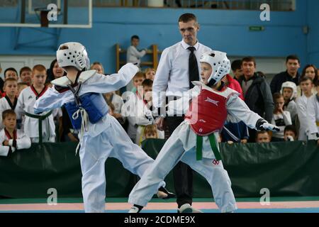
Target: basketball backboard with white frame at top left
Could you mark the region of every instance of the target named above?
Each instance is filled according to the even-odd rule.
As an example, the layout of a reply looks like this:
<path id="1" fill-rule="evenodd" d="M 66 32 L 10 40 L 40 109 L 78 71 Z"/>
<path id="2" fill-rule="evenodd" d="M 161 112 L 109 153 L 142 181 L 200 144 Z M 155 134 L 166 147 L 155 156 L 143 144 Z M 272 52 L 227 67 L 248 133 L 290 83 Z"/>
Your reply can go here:
<path id="1" fill-rule="evenodd" d="M 91 28 L 92 0 L 0 0 L 0 27 Z"/>

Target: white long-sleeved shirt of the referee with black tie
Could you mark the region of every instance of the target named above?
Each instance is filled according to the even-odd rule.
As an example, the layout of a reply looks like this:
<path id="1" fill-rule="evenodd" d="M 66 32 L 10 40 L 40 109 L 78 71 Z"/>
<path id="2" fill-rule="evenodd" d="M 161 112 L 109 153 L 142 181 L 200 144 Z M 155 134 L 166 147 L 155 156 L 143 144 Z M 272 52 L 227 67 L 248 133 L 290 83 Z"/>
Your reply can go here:
<path id="1" fill-rule="evenodd" d="M 190 51 L 187 50 L 189 46 L 184 40 L 181 40 L 181 42 L 163 50 L 152 88 L 152 101 L 155 108 L 164 106 L 165 96 L 180 97 L 182 92 L 189 90 Z M 211 51 L 211 48 L 198 43 L 198 40 L 194 48 L 196 49 L 194 53 L 197 59 L 198 72 L 201 75 L 199 59 L 203 52 Z"/>

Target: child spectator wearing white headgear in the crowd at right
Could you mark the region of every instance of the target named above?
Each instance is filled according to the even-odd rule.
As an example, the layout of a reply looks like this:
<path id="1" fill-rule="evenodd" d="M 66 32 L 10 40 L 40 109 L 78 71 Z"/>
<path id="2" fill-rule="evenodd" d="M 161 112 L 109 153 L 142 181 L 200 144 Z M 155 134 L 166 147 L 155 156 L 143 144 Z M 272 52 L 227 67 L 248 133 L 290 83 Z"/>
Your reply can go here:
<path id="1" fill-rule="evenodd" d="M 297 116 L 297 104 L 294 101 L 297 97 L 296 84 L 291 81 L 284 82 L 281 84 L 280 93 L 284 96 L 284 111 L 289 111 L 291 122 L 294 124 Z"/>

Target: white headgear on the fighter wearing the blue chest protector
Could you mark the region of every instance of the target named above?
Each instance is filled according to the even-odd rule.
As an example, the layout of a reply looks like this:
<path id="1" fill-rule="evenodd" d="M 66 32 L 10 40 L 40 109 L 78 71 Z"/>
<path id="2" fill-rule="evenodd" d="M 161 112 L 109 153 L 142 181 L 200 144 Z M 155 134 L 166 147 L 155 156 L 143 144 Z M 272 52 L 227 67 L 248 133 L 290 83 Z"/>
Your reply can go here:
<path id="1" fill-rule="evenodd" d="M 57 49 L 59 67 L 74 66 L 79 71 L 89 70 L 90 60 L 84 45 L 76 42 L 63 43 Z"/>

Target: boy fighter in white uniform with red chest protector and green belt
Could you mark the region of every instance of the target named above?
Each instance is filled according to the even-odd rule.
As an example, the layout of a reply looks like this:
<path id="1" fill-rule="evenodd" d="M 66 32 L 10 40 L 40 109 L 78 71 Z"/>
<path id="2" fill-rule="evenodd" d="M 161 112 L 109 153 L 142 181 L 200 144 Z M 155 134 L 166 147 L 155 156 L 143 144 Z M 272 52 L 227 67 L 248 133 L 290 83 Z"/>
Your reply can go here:
<path id="1" fill-rule="evenodd" d="M 227 115 L 231 114 L 259 131 L 279 131 L 279 128 L 250 111 L 238 97 L 238 92 L 223 87 L 220 79 L 230 71 L 230 61 L 225 52 L 206 52 L 200 62 L 201 82 L 193 82 L 195 87 L 187 95 L 169 102 L 167 106 L 167 114 L 186 113 L 185 120 L 175 129 L 155 162 L 130 192 L 128 201 L 134 204 L 129 211 L 131 213 L 138 213 L 146 206 L 159 182 L 179 160 L 207 179 L 221 212 L 235 211 L 235 196 L 228 172 L 223 168 L 217 142 L 218 132 L 223 128 Z M 190 204 L 184 204 L 179 209 L 181 213 L 192 211 Z"/>

